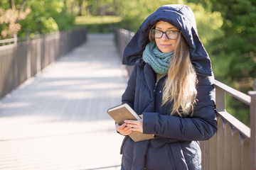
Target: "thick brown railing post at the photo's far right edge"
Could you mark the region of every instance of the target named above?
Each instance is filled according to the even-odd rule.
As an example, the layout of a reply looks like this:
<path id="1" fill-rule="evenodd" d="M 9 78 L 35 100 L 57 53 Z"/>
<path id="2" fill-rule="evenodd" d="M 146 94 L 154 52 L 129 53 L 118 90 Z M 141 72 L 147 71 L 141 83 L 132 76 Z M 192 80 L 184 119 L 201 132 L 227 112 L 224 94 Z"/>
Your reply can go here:
<path id="1" fill-rule="evenodd" d="M 250 103 L 250 170 L 256 169 L 256 79 L 253 84 L 253 90 L 248 94 L 251 97 Z"/>

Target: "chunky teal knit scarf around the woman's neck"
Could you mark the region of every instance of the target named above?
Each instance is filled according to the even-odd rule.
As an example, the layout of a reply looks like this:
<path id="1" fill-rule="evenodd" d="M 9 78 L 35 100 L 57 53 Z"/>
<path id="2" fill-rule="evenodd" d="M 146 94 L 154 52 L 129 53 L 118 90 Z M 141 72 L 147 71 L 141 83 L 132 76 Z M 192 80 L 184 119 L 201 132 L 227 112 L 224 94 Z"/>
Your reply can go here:
<path id="1" fill-rule="evenodd" d="M 149 42 L 146 45 L 142 58 L 154 69 L 154 72 L 167 74 L 173 56 L 174 52 L 163 53 L 154 42 Z"/>

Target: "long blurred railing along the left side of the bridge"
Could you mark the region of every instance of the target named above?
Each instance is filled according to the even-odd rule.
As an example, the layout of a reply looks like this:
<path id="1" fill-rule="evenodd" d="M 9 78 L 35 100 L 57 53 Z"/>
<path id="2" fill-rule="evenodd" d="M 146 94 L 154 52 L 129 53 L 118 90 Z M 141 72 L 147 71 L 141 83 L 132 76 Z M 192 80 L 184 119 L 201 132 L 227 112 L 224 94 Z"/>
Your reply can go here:
<path id="1" fill-rule="evenodd" d="M 86 40 L 86 29 L 0 40 L 0 98 Z"/>

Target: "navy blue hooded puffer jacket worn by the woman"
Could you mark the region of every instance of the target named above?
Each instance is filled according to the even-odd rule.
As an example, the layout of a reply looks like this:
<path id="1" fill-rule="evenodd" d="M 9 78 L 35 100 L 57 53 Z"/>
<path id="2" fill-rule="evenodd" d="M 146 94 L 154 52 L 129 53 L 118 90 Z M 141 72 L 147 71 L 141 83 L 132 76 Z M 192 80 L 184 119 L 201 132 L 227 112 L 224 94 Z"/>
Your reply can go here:
<path id="1" fill-rule="evenodd" d="M 166 77 L 156 83 L 156 74 L 143 62 L 142 53 L 149 42 L 149 30 L 158 21 L 176 26 L 188 42 L 191 62 L 196 69 L 197 103 L 193 117 L 169 115 L 172 104 L 161 106 Z M 121 152 L 122 169 L 201 169 L 201 149 L 198 140 L 208 140 L 217 130 L 215 119 L 215 90 L 210 59 L 196 30 L 193 12 L 188 6 L 162 6 L 151 14 L 124 50 L 123 62 L 134 65 L 122 103 L 143 114 L 143 130 L 154 134 L 153 140 L 134 142 L 124 137 Z"/>

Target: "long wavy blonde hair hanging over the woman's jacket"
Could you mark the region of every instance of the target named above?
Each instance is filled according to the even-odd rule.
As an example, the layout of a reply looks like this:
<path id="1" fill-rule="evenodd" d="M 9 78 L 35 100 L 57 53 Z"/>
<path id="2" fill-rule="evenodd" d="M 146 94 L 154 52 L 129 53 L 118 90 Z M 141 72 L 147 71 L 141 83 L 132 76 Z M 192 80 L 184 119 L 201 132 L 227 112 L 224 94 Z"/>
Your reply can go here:
<path id="1" fill-rule="evenodd" d="M 151 31 L 149 39 L 154 41 Z M 196 84 L 196 71 L 190 60 L 188 45 L 179 34 L 163 89 L 162 106 L 173 102 L 171 115 L 176 113 L 181 117 L 193 115 L 197 95 Z"/>

